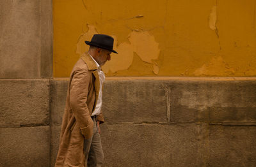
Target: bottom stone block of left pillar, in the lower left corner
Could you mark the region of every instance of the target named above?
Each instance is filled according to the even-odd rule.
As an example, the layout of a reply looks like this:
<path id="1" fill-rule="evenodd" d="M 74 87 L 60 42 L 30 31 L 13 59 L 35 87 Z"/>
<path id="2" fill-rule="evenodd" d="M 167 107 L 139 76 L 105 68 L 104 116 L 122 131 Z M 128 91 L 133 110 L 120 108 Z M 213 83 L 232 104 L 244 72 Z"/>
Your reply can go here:
<path id="1" fill-rule="evenodd" d="M 49 166 L 49 126 L 0 127 L 0 166 Z"/>

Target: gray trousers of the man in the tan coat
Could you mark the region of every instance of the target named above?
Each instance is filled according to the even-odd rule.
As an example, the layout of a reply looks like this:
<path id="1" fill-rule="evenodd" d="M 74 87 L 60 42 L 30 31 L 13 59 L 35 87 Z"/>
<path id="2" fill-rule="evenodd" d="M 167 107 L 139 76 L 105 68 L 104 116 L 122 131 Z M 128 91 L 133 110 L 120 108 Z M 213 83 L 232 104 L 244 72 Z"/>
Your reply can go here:
<path id="1" fill-rule="evenodd" d="M 84 140 L 84 156 L 84 166 L 100 167 L 103 164 L 104 154 L 95 117 L 93 117 L 93 136 Z"/>

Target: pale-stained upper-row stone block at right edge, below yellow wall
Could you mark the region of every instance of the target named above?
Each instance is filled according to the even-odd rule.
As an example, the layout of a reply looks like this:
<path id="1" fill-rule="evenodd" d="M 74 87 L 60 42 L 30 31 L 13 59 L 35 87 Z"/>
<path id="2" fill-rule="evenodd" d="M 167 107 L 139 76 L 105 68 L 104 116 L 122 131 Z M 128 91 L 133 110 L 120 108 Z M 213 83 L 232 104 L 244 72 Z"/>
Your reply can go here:
<path id="1" fill-rule="evenodd" d="M 256 122 L 256 81 L 177 81 L 170 89 L 172 122 Z"/>

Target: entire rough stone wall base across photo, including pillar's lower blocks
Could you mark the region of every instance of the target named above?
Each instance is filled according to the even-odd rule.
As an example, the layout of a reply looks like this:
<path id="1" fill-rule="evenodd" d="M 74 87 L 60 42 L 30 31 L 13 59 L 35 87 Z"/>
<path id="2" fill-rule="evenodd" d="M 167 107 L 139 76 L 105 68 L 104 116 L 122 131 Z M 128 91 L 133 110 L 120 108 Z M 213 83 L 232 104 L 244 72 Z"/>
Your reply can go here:
<path id="1" fill-rule="evenodd" d="M 54 166 L 68 79 L 0 85 L 0 166 Z M 104 166 L 256 166 L 256 78 L 108 78 L 102 110 Z"/>

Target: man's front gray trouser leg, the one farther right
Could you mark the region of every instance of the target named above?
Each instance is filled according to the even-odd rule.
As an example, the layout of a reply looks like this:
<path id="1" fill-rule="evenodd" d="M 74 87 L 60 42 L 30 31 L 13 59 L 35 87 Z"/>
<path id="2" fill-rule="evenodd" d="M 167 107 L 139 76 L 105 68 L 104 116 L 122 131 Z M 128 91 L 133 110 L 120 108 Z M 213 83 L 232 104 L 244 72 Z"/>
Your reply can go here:
<path id="1" fill-rule="evenodd" d="M 95 129 L 95 133 L 92 137 L 92 143 L 88 156 L 88 167 L 100 167 L 103 164 L 104 154 L 102 150 L 100 134 L 97 129 L 97 121 L 94 121 L 95 125 L 93 127 L 93 131 Z"/>

